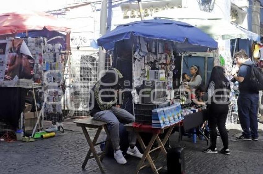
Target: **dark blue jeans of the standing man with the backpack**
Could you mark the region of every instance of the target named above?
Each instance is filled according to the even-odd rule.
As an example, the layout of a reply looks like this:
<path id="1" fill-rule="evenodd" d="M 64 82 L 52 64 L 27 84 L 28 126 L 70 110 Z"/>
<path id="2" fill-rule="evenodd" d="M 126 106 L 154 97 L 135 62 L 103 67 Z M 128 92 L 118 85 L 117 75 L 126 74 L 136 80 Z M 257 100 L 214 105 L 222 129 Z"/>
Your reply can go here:
<path id="1" fill-rule="evenodd" d="M 237 99 L 238 118 L 245 138 L 258 138 L 258 94 L 240 94 Z"/>

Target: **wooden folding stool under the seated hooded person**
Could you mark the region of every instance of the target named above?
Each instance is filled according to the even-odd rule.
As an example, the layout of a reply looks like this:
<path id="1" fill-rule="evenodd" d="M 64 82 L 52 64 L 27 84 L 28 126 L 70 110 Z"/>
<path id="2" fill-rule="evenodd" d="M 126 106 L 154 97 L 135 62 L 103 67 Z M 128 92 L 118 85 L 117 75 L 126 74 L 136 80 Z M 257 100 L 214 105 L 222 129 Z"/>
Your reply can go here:
<path id="1" fill-rule="evenodd" d="M 81 167 L 83 169 L 85 169 L 88 160 L 92 159 L 92 158 L 95 158 L 95 160 L 96 160 L 101 172 L 104 173 L 104 170 L 102 168 L 101 162 L 102 162 L 105 154 L 107 153 L 108 148 L 109 148 L 109 144 L 110 144 L 110 134 L 109 134 L 109 131 L 107 129 L 107 123 L 106 122 L 97 121 L 97 120 L 95 120 L 93 118 L 85 118 L 85 119 L 82 119 L 82 120 L 76 120 L 74 122 L 76 123 L 77 126 L 81 127 L 81 129 L 82 129 L 82 131 L 83 131 L 83 133 L 84 133 L 84 135 L 86 137 L 86 140 L 88 142 L 88 145 L 89 145 L 88 153 L 87 153 L 86 158 L 85 158 L 85 160 L 84 160 L 84 162 L 83 162 Z M 88 131 L 86 129 L 87 127 L 88 128 L 95 128 L 95 129 L 97 129 L 97 132 L 96 132 L 96 135 L 95 135 L 93 141 L 91 141 L 90 136 L 88 135 Z M 107 138 L 106 138 L 105 141 L 97 143 L 97 140 L 98 140 L 99 135 L 100 135 L 100 133 L 101 133 L 103 128 L 104 128 L 104 130 L 106 132 Z M 95 146 L 100 145 L 102 143 L 106 143 L 105 149 L 104 149 L 103 152 L 97 154 Z M 93 156 L 90 156 L 91 153 L 93 154 Z M 99 156 L 100 156 L 100 158 L 99 158 Z"/>

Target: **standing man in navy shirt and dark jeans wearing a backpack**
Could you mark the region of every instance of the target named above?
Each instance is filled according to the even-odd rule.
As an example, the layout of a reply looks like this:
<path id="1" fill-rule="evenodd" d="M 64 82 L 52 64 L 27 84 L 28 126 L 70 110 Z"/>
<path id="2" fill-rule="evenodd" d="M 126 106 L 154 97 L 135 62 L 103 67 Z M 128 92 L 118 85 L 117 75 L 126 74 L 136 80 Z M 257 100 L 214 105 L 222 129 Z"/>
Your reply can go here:
<path id="1" fill-rule="evenodd" d="M 241 128 L 243 130 L 242 135 L 236 137 L 237 140 L 258 140 L 258 91 L 252 88 L 251 67 L 253 62 L 248 59 L 248 55 L 244 50 L 235 53 L 237 65 L 239 71 L 232 72 L 232 75 L 239 82 L 239 97 L 237 100 L 238 105 L 238 117 Z"/>

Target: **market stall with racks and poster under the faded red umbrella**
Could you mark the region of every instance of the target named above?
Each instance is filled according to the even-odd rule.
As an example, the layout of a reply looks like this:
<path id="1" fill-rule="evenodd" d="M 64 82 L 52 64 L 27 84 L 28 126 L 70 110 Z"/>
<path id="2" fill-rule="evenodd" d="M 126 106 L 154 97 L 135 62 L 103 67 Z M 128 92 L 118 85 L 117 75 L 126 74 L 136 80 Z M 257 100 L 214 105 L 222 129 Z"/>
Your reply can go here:
<path id="1" fill-rule="evenodd" d="M 30 67 L 32 68 L 32 71 L 30 72 L 31 77 L 27 78 L 27 81 L 25 81 L 25 78 L 22 79 L 22 77 L 20 80 L 20 76 L 15 76 L 15 74 L 12 72 L 11 74 L 14 74 L 14 76 L 7 76 L 8 74 L 6 73 L 1 74 L 1 77 L 4 75 L 5 78 L 1 78 L 0 93 L 3 97 L 1 98 L 0 103 L 1 106 L 6 109 L 1 110 L 0 119 L 11 122 L 14 130 L 18 126 L 18 119 L 20 118 L 21 112 L 24 110 L 26 100 L 25 94 L 28 93 L 28 89 L 32 92 L 32 94 L 34 93 L 35 97 L 33 98 L 37 101 L 35 100 L 35 102 L 33 102 L 33 107 L 32 105 L 31 107 L 28 105 L 28 108 L 30 109 L 26 108 L 28 109 L 28 113 L 26 113 L 24 116 L 28 116 L 29 120 L 26 120 L 27 122 L 33 122 L 36 124 L 30 124 L 28 127 L 24 126 L 24 128 L 29 129 L 31 132 L 34 127 L 36 130 L 38 122 L 37 120 L 42 118 L 42 121 L 40 122 L 43 123 L 44 115 L 53 122 L 63 120 L 61 117 L 62 108 L 60 100 L 63 96 L 63 87 L 61 84 L 63 83 L 63 65 L 65 58 L 62 50 L 63 48 L 66 48 L 66 45 L 64 43 L 50 44 L 49 40 L 42 36 L 41 33 L 38 36 L 34 35 L 34 37 L 28 37 L 28 32 L 33 30 L 35 32 L 62 31 L 64 33 L 69 33 L 70 27 L 66 26 L 67 24 L 64 21 L 44 12 L 19 10 L 0 14 L 1 38 L 4 39 L 10 36 L 13 37 L 11 39 L 2 40 L 2 42 L 14 43 L 18 40 L 22 40 L 23 48 L 27 48 L 27 51 L 31 54 L 33 60 L 32 64 L 30 64 Z M 26 35 L 20 35 L 22 36 L 20 39 L 14 39 L 14 36 L 22 32 L 24 32 Z M 53 32 L 52 34 L 52 36 L 55 37 L 56 33 Z M 8 63 L 9 59 L 7 58 L 12 55 L 12 52 L 10 52 L 9 47 L 6 47 L 4 50 L 5 52 L 3 55 L 1 55 L 3 58 L 3 62 L 1 63 L 3 63 L 3 67 L 7 69 L 8 73 L 10 71 L 10 68 L 8 67 L 11 67 L 11 64 Z M 20 53 L 22 56 L 25 54 L 24 52 Z M 21 72 L 23 75 L 23 71 Z M 16 80 L 17 77 L 18 81 Z M 16 95 L 13 95 L 14 93 Z M 11 94 L 13 97 L 10 97 Z M 13 100 L 16 102 L 21 102 L 16 104 Z M 45 101 L 49 103 L 44 104 L 44 107 L 42 107 L 43 109 L 40 113 L 36 112 L 32 114 L 30 112 L 31 108 L 40 110 Z M 42 114 L 42 116 L 38 114 Z M 38 126 L 38 128 L 39 127 L 40 126 Z M 2 128 L 1 125 L 0 128 Z M 35 130 L 33 132 L 35 132 Z"/>

